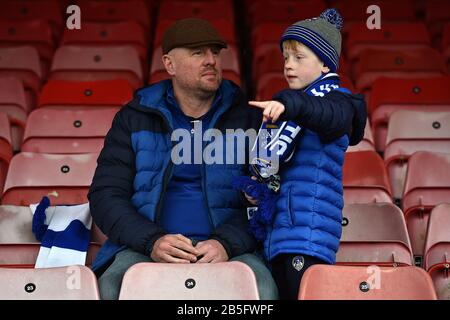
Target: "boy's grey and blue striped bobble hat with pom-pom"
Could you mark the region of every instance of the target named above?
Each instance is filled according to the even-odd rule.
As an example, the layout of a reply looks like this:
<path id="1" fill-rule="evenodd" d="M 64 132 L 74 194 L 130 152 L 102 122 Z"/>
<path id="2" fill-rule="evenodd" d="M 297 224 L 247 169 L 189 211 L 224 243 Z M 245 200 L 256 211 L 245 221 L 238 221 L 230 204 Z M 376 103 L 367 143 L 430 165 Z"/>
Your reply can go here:
<path id="1" fill-rule="evenodd" d="M 336 9 L 327 9 L 317 18 L 297 21 L 283 33 L 280 40 L 281 50 L 284 41 L 296 40 L 310 48 L 331 72 L 337 72 L 343 23 Z"/>

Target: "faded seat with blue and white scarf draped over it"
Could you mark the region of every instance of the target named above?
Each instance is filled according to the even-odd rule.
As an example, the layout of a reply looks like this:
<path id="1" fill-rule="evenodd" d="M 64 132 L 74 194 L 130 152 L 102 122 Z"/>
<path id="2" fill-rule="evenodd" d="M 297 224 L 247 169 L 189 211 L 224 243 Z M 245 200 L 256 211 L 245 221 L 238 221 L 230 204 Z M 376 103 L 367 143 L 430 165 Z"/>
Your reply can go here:
<path id="1" fill-rule="evenodd" d="M 41 244 L 32 233 L 30 207 L 0 206 L 0 268 L 33 268 Z M 91 266 L 105 236 L 92 225 L 91 243 L 86 256 L 86 265 Z M 1 270 L 1 269 L 0 269 Z"/>

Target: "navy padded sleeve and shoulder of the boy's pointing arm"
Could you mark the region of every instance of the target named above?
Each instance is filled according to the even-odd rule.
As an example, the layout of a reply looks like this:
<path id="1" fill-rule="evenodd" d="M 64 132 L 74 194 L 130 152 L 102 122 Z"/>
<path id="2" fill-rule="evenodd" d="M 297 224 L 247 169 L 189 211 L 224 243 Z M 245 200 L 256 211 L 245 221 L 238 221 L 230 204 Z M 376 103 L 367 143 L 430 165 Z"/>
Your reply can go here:
<path id="1" fill-rule="evenodd" d="M 273 100 L 286 108 L 280 120 L 294 120 L 301 127 L 316 132 L 324 143 L 347 134 L 350 145 L 355 145 L 364 136 L 367 111 L 363 95 L 335 90 L 324 97 L 315 97 L 301 90 L 286 89 L 277 93 Z"/>

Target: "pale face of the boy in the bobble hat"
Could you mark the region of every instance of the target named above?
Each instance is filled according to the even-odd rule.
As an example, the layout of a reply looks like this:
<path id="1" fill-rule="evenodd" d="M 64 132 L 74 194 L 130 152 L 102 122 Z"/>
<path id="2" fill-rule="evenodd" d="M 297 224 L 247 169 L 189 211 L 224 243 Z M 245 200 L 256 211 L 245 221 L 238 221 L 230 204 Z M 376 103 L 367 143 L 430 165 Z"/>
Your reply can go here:
<path id="1" fill-rule="evenodd" d="M 300 42 L 283 43 L 284 77 L 291 89 L 303 89 L 322 73 L 330 72 L 314 52 Z"/>

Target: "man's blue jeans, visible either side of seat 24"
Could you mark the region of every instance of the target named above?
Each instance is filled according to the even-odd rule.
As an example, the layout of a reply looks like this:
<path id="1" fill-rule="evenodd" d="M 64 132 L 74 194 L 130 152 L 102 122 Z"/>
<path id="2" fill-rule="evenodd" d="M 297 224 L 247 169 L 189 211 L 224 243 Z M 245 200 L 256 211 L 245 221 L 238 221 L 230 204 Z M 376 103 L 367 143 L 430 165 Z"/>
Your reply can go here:
<path id="1" fill-rule="evenodd" d="M 254 272 L 261 300 L 278 299 L 278 289 L 269 269 L 264 262 L 254 254 L 246 253 L 230 259 L 248 265 Z M 103 300 L 117 300 L 125 272 L 139 262 L 153 262 L 148 256 L 131 249 L 119 252 L 113 263 L 98 279 L 100 297 Z"/>

